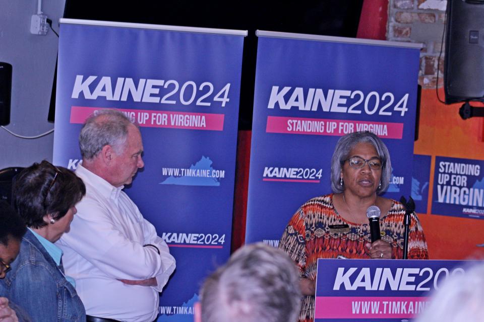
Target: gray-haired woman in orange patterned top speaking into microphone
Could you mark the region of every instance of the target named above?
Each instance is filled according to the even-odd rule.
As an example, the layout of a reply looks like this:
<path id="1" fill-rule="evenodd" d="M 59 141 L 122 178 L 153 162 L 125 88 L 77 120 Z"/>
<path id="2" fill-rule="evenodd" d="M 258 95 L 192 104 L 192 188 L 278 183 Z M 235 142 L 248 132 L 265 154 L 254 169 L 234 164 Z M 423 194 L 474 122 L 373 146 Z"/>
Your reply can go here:
<path id="1" fill-rule="evenodd" d="M 279 242 L 279 248 L 299 266 L 301 291 L 306 295 L 299 321 L 314 320 L 319 258 L 403 258 L 405 209 L 395 200 L 378 196 L 388 187 L 391 171 L 388 149 L 375 134 L 354 132 L 338 140 L 331 159 L 333 193 L 300 206 Z M 378 212 L 379 239 L 375 237 L 375 229 L 372 238 L 369 224 L 369 217 L 378 216 Z M 372 239 L 376 240 L 372 243 Z M 412 214 L 408 258 L 428 257 L 422 227 Z"/>

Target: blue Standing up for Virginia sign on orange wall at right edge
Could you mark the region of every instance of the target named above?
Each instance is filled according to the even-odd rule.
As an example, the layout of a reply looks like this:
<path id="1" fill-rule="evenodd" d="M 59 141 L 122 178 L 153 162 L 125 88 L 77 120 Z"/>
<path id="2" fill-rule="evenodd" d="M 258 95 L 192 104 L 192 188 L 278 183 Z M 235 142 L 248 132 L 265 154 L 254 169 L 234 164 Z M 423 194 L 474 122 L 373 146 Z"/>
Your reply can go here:
<path id="1" fill-rule="evenodd" d="M 436 156 L 432 213 L 484 219 L 483 160 Z"/>

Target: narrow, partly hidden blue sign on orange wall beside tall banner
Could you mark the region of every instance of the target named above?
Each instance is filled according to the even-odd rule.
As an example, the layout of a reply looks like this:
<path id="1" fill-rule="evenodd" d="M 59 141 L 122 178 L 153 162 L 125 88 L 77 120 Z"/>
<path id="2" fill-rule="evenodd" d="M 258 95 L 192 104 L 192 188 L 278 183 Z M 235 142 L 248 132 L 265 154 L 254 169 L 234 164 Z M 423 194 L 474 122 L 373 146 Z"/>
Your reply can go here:
<path id="1" fill-rule="evenodd" d="M 411 197 L 415 201 L 415 212 L 427 213 L 429 198 L 430 166 L 432 156 L 414 154 Z"/>

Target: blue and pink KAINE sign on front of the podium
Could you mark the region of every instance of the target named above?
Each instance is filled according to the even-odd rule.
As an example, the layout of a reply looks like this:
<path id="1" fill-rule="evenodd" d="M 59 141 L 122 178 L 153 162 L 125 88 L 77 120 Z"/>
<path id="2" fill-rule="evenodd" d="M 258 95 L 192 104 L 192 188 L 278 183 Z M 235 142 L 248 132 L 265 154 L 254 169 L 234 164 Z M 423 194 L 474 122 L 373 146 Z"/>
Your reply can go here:
<path id="1" fill-rule="evenodd" d="M 315 322 L 408 321 L 475 261 L 319 259 Z"/>

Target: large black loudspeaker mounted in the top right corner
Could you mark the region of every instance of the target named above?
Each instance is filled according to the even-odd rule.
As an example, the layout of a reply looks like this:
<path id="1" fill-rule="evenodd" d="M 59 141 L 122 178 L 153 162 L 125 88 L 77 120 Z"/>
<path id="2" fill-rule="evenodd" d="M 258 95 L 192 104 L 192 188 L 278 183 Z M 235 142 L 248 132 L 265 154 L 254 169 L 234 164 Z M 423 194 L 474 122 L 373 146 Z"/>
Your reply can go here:
<path id="1" fill-rule="evenodd" d="M 445 103 L 484 101 L 484 0 L 448 0 Z"/>

